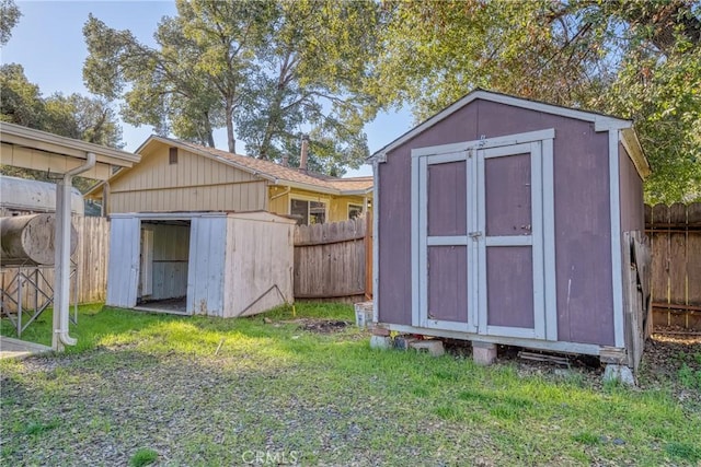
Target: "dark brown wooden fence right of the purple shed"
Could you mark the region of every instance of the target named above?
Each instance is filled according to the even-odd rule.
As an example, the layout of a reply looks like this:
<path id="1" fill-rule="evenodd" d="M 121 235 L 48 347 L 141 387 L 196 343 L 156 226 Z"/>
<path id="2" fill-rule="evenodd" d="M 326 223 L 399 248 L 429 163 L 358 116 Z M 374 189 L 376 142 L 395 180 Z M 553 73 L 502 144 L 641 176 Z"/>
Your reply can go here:
<path id="1" fill-rule="evenodd" d="M 701 203 L 645 206 L 654 324 L 701 330 Z"/>

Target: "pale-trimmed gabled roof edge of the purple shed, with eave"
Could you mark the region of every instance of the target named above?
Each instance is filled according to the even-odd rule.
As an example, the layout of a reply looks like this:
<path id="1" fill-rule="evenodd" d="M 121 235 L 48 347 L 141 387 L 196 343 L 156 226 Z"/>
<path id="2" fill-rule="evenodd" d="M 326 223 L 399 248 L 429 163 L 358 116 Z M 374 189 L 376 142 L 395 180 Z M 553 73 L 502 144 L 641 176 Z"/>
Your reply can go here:
<path id="1" fill-rule="evenodd" d="M 418 124 L 411 130 L 406 131 L 404 135 L 395 139 L 394 141 L 387 144 L 384 148 L 377 151 L 369 157 L 369 161 L 382 161 L 387 156 L 387 154 L 402 145 L 406 141 L 416 137 L 417 135 L 424 132 L 428 128 L 438 124 L 439 121 L 448 118 L 450 115 L 455 114 L 462 107 L 472 103 L 473 101 L 482 100 L 490 101 L 499 104 L 510 105 L 514 107 L 528 108 L 531 110 L 542 112 L 545 114 L 559 115 L 562 117 L 574 118 L 577 120 L 590 121 L 595 125 L 596 131 L 606 131 L 606 130 L 621 130 L 623 144 L 625 145 L 629 155 L 633 160 L 637 172 L 644 178 L 651 173 L 650 163 L 643 153 L 643 150 L 640 145 L 640 141 L 637 140 L 637 136 L 635 135 L 635 130 L 633 129 L 633 121 L 627 120 L 623 118 L 613 117 L 611 115 L 599 114 L 596 112 L 587 112 L 587 110 L 578 110 L 576 108 L 563 107 L 553 104 L 547 104 L 538 101 L 530 101 L 527 98 L 515 97 L 507 94 L 496 93 L 492 91 L 484 91 L 481 89 L 476 89 L 458 101 L 453 102 L 443 110 L 438 112 L 434 116 Z"/>

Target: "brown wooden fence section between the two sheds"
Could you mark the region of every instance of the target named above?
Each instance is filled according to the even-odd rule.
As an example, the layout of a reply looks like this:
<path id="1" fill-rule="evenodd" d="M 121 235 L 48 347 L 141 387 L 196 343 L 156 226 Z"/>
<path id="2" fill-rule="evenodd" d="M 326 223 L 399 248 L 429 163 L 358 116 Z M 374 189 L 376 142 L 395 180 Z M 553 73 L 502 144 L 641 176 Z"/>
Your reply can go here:
<path id="1" fill-rule="evenodd" d="M 295 229 L 295 299 L 371 296 L 371 217 Z"/>

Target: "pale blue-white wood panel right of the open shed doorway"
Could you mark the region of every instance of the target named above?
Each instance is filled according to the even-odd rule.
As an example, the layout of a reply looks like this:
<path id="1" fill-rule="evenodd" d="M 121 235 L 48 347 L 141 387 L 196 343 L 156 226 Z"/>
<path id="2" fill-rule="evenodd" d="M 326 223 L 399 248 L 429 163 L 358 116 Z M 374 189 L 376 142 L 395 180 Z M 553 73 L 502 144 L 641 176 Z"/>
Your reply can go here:
<path id="1" fill-rule="evenodd" d="M 223 316 L 227 218 L 193 218 L 189 232 L 187 312 Z"/>

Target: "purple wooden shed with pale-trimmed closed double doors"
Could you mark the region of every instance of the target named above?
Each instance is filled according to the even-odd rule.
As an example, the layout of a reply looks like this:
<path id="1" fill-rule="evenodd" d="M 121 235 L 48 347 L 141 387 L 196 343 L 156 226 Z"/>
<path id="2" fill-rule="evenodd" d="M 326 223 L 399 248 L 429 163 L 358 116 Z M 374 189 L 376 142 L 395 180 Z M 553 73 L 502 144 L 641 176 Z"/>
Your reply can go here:
<path id="1" fill-rule="evenodd" d="M 378 332 L 630 364 L 623 233 L 650 173 L 631 121 L 478 90 L 372 161 Z"/>

